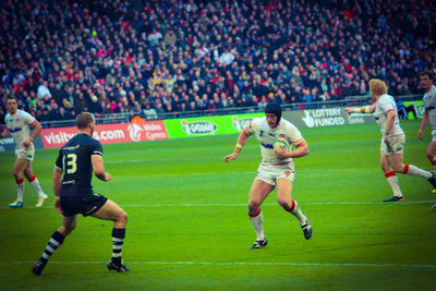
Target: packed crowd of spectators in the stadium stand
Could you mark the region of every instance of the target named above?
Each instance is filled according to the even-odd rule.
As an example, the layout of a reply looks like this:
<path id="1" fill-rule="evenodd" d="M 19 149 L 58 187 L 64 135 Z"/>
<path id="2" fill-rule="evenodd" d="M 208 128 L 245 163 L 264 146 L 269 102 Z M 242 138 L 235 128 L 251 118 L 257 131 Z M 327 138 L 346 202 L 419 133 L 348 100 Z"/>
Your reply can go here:
<path id="1" fill-rule="evenodd" d="M 420 93 L 436 63 L 424 0 L 0 1 L 5 97 L 39 121 Z M 0 123 L 4 123 L 0 119 Z"/>

